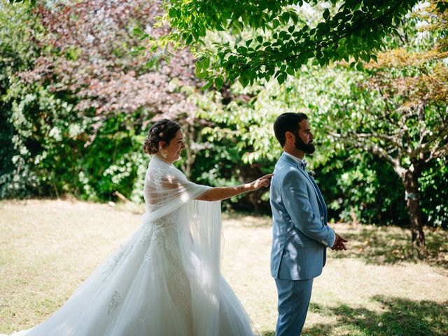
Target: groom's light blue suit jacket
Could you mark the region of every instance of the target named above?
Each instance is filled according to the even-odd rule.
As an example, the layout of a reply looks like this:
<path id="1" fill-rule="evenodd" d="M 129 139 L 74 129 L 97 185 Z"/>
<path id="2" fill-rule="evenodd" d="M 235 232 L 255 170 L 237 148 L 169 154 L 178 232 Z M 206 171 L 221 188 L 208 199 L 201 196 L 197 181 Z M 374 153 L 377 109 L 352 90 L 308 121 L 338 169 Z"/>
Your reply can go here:
<path id="1" fill-rule="evenodd" d="M 327 225 L 327 207 L 316 182 L 284 153 L 275 165 L 270 202 L 272 276 L 306 280 L 320 275 L 335 232 Z"/>

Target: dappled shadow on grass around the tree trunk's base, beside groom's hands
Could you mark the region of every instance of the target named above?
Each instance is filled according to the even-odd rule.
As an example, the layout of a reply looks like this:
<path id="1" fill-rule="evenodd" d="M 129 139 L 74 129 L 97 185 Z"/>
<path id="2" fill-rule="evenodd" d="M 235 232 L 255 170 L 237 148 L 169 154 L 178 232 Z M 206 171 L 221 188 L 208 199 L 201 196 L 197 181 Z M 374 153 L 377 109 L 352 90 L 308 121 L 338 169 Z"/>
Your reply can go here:
<path id="1" fill-rule="evenodd" d="M 353 231 L 343 230 L 342 235 L 349 240 L 348 250 L 331 253 L 332 258 L 361 258 L 377 265 L 424 260 L 429 265 L 448 269 L 447 232 L 426 231 L 426 248 L 419 250 L 412 246 L 409 230 L 369 225 Z"/>

